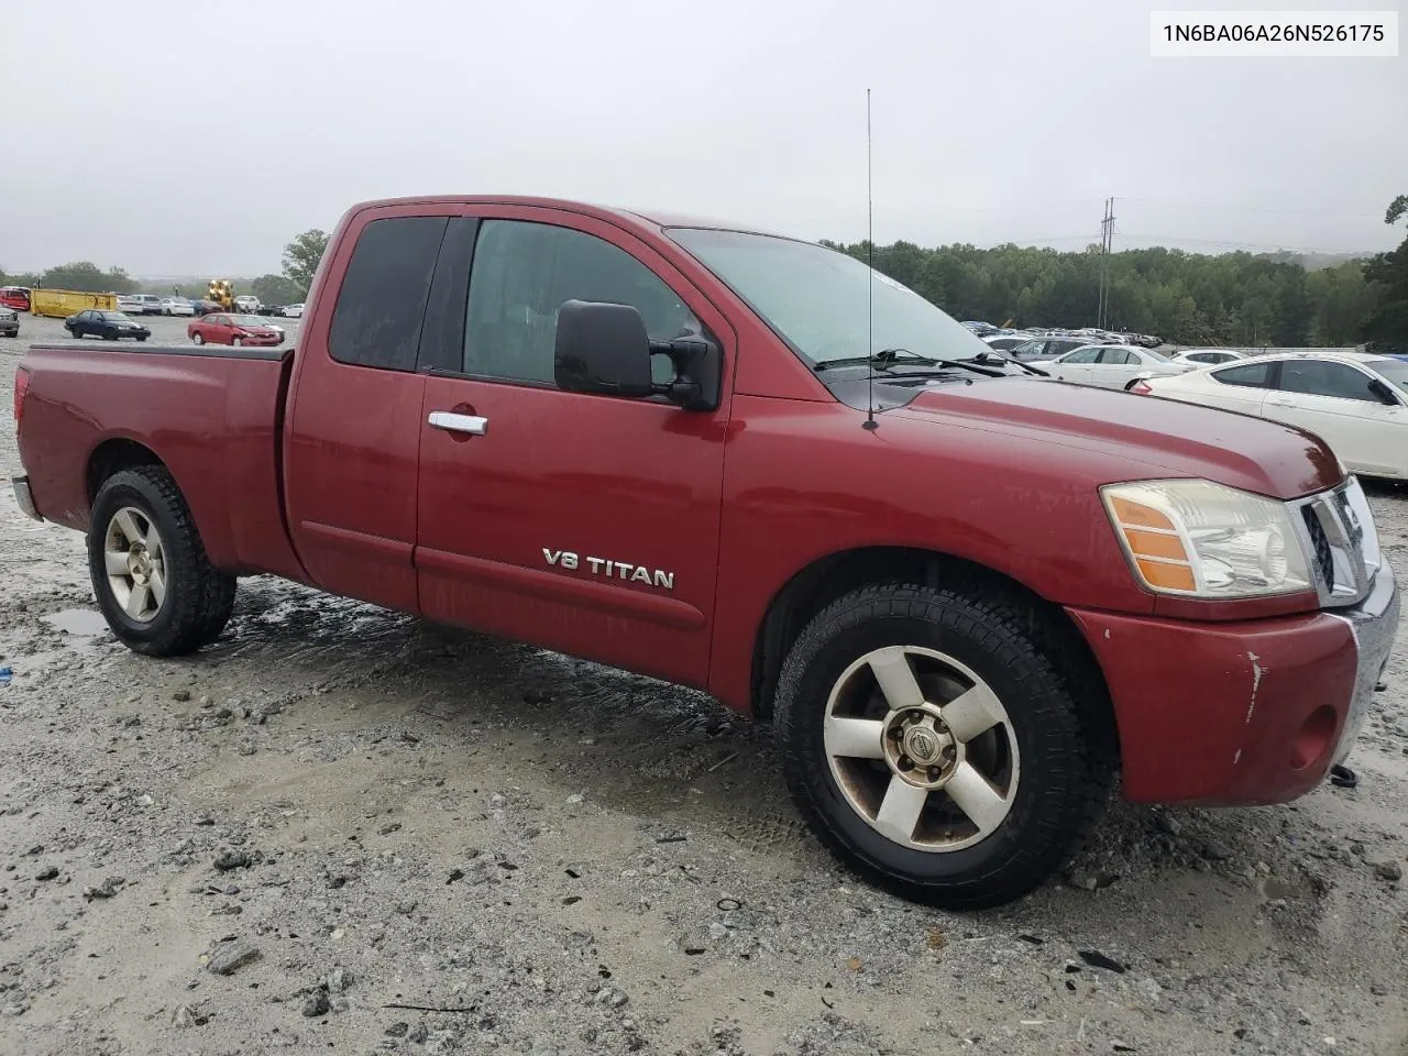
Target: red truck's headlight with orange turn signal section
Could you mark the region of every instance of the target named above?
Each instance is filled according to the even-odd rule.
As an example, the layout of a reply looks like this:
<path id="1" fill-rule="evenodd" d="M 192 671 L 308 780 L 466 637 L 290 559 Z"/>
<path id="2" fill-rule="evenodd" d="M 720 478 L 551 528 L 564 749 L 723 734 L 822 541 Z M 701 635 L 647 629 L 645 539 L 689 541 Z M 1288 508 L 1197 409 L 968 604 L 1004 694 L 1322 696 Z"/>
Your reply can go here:
<path id="1" fill-rule="evenodd" d="M 1284 503 L 1211 480 L 1143 480 L 1100 491 L 1149 590 L 1238 598 L 1312 586 Z"/>

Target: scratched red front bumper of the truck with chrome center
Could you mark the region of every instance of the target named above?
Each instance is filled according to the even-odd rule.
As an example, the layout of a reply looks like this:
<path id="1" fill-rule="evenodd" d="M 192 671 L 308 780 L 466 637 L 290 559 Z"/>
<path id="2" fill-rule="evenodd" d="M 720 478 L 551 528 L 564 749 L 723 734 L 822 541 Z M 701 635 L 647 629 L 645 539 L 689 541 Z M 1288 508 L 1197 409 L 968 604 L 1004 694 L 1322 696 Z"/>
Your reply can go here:
<path id="1" fill-rule="evenodd" d="M 1352 608 L 1232 624 L 1067 610 L 1105 674 L 1140 803 L 1286 803 L 1354 746 L 1398 629 L 1387 560 Z"/>

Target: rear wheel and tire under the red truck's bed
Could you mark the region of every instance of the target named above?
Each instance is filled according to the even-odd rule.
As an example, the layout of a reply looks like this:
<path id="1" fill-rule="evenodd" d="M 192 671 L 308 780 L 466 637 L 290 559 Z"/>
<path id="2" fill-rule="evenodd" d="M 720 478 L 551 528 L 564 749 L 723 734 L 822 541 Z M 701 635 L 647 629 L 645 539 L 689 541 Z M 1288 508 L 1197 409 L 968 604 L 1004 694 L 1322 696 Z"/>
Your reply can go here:
<path id="1" fill-rule="evenodd" d="M 93 500 L 89 574 L 113 634 L 146 656 L 180 656 L 220 636 L 235 577 L 215 569 L 172 474 L 139 466 Z"/>

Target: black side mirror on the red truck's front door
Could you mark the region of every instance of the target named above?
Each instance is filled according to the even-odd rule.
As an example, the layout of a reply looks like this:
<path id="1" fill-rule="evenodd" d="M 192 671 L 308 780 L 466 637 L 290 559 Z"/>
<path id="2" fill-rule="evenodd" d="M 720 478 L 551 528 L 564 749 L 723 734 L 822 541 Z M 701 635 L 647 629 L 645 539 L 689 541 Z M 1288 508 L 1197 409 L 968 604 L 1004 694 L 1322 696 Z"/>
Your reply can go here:
<path id="1" fill-rule="evenodd" d="M 652 355 L 670 358 L 674 380 L 652 380 Z M 558 310 L 553 380 L 563 391 L 665 396 L 687 411 L 712 411 L 722 375 L 724 356 L 711 339 L 652 342 L 639 310 L 628 304 L 566 301 Z"/>

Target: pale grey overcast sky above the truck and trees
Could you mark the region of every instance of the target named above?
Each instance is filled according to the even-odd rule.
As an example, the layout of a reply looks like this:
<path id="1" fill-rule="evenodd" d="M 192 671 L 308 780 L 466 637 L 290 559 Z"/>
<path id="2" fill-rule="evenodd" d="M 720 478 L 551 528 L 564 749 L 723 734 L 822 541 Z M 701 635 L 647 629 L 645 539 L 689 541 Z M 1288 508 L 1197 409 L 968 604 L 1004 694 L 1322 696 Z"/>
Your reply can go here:
<path id="1" fill-rule="evenodd" d="M 0 266 L 273 272 L 298 231 L 421 193 L 859 239 L 866 87 L 880 242 L 1077 249 L 1108 194 L 1117 248 L 1402 238 L 1383 222 L 1408 193 L 1402 41 L 1153 59 L 1152 6 L 1174 4 L 65 0 L 55 21 L 7 3 Z"/>

